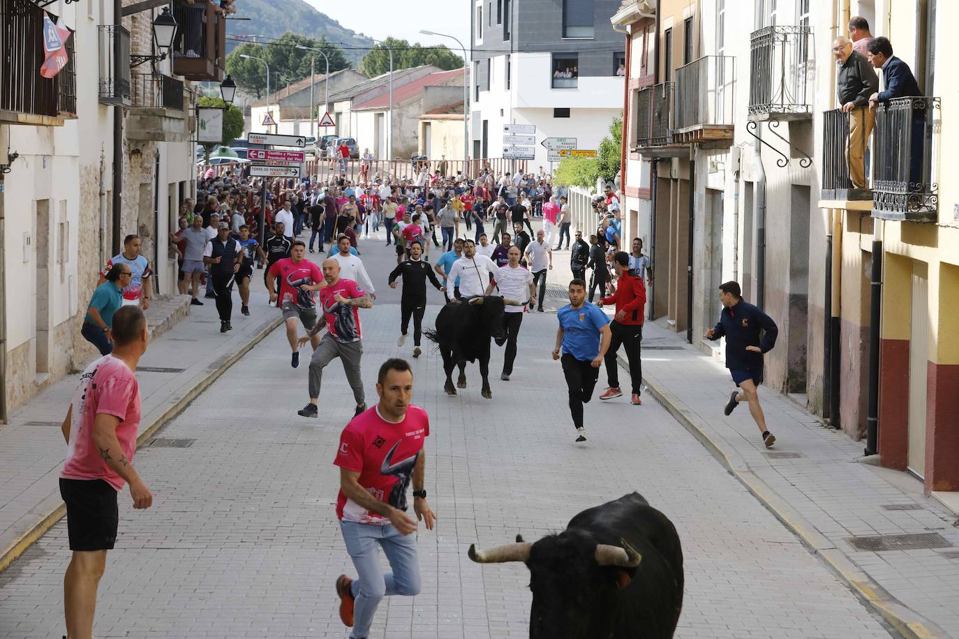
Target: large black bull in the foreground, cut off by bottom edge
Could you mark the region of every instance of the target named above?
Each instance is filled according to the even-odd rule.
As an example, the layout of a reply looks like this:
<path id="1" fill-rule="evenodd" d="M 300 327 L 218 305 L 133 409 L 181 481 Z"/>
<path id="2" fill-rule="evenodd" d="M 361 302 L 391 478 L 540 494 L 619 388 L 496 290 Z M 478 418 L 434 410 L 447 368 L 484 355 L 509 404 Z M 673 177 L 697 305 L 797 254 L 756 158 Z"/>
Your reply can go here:
<path id="1" fill-rule="evenodd" d="M 683 605 L 683 551 L 667 516 L 636 493 L 577 514 L 566 530 L 477 550 L 479 563 L 524 561 L 530 639 L 671 637 Z"/>

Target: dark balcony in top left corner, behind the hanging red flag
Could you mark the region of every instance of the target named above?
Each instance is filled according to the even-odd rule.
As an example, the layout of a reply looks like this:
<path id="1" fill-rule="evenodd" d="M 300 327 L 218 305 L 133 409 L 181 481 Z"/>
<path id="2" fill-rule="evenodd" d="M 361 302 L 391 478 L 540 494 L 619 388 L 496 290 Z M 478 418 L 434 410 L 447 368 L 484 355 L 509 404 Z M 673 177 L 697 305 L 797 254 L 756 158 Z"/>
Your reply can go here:
<path id="1" fill-rule="evenodd" d="M 36 5 L 0 0 L 0 124 L 62 126 L 76 117 L 73 35 L 66 40 L 68 62 L 52 79 L 40 76 L 43 11 Z M 24 46 L 30 43 L 30 46 Z"/>

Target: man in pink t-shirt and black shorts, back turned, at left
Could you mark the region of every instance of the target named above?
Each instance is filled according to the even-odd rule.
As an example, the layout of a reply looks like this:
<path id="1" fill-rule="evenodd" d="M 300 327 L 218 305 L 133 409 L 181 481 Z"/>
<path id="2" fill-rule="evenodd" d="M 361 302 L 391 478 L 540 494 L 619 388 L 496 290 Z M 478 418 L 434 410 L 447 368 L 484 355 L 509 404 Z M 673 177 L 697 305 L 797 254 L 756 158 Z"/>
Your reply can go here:
<path id="1" fill-rule="evenodd" d="M 117 537 L 117 492 L 129 484 L 133 508 L 150 508 L 153 495 L 131 461 L 140 425 L 140 389 L 133 371 L 147 351 L 147 318 L 139 307 L 113 315 L 113 352 L 80 377 L 61 426 L 67 443 L 60 473 L 73 557 L 63 580 L 67 634 L 89 637 L 106 551 Z"/>

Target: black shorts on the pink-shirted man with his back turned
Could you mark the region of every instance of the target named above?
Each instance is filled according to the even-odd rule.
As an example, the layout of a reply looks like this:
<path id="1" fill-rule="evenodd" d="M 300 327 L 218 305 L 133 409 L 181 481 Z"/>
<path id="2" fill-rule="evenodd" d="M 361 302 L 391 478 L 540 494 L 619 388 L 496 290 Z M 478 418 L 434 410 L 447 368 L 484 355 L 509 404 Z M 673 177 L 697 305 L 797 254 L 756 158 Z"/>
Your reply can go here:
<path id="1" fill-rule="evenodd" d="M 60 477 L 59 483 L 70 550 L 112 550 L 120 522 L 116 489 L 104 479 Z"/>

